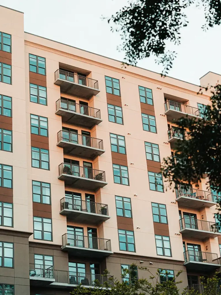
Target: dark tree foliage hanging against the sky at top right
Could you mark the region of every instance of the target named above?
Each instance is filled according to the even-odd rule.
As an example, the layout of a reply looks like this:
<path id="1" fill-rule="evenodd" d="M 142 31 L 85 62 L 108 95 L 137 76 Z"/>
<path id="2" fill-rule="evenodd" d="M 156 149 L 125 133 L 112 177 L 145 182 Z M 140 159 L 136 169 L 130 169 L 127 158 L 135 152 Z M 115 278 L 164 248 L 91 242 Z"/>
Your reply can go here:
<path id="1" fill-rule="evenodd" d="M 195 5 L 204 10 L 204 30 L 221 24 L 221 2 L 218 0 L 128 0 L 128 5 L 112 15 L 112 31 L 120 32 L 125 63 L 155 56 L 167 74 L 176 53 L 166 51 L 166 40 L 180 44 L 180 30 L 188 24 L 185 9 Z"/>

